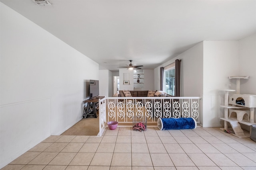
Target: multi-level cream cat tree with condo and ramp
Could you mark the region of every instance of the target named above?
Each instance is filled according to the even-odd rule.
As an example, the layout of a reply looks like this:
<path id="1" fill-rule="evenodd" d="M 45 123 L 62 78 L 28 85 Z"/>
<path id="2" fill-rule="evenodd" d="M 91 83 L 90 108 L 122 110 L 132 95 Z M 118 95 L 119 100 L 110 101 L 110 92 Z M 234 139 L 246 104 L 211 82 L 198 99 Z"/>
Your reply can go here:
<path id="1" fill-rule="evenodd" d="M 224 130 L 229 131 L 228 122 L 232 127 L 232 133 L 239 138 L 250 137 L 251 125 L 256 125 L 254 122 L 254 107 L 256 107 L 256 95 L 253 94 L 240 94 L 240 79 L 248 79 L 249 76 L 230 76 L 229 79 L 236 79 L 236 90 L 223 90 L 225 91 L 224 117 Z M 228 94 L 235 92 L 236 94 Z M 241 124 L 250 126 L 250 133 L 242 130 Z M 222 128 L 223 129 L 223 128 Z"/>

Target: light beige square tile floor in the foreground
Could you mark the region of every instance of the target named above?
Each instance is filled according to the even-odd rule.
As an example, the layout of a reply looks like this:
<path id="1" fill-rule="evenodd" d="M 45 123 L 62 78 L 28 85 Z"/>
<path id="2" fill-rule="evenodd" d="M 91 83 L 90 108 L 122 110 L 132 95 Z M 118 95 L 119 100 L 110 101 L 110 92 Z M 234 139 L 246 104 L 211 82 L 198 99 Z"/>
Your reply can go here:
<path id="1" fill-rule="evenodd" d="M 256 142 L 219 128 L 50 136 L 2 170 L 256 170 Z"/>

